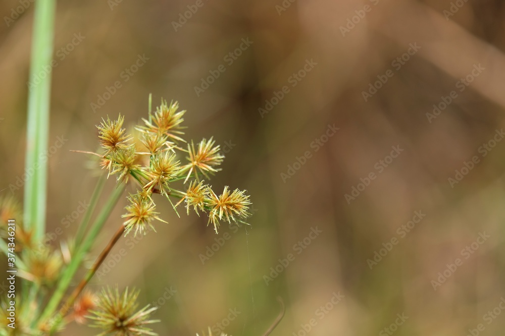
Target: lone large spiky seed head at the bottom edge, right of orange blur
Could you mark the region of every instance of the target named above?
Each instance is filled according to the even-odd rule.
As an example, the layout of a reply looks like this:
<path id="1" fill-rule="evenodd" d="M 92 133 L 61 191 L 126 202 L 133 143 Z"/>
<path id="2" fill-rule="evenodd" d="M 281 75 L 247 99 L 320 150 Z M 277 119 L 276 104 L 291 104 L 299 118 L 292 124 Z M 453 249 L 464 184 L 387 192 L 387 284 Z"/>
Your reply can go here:
<path id="1" fill-rule="evenodd" d="M 93 321 L 90 326 L 104 330 L 98 336 L 158 335 L 148 327 L 148 324 L 159 322 L 149 319 L 157 307 L 147 305 L 137 311 L 138 294 L 139 291 L 128 291 L 128 288 L 120 293 L 117 286 L 107 287 L 98 294 L 96 308 L 87 316 Z"/>

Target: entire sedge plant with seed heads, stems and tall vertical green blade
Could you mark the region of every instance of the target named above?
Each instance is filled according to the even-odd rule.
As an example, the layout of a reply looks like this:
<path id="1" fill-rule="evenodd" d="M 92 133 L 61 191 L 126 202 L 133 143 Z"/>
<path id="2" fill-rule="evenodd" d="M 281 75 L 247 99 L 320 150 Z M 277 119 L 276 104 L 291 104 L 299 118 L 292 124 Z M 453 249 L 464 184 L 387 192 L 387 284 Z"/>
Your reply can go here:
<path id="1" fill-rule="evenodd" d="M 52 60 L 56 1 L 38 0 L 34 6 L 30 78 L 48 67 Z M 18 275 L 22 278 L 17 282 L 21 293 L 19 295 L 17 291 L 15 297 L 15 328 L 0 328 L 0 335 L 53 335 L 73 321 L 101 328 L 100 335 L 156 335 L 147 326 L 157 321 L 150 318 L 155 308 L 146 306 L 138 310 L 138 291 L 126 289 L 120 293 L 117 287 L 104 289 L 98 295 L 85 291 L 98 267 L 124 235 L 145 235 L 146 228 L 154 229 L 155 221 L 166 223 L 156 212 L 153 194 L 165 196 L 176 213 L 177 206 L 183 202 L 188 214 L 191 207 L 198 215 L 207 213 L 207 225 L 212 224 L 216 233 L 223 220 L 244 222 L 250 215 L 249 196 L 238 189 L 230 192 L 228 187 L 224 187 L 218 196 L 210 185 L 205 184 L 202 177 L 209 180 L 220 170 L 224 158 L 220 147 L 212 138 L 203 139 L 196 146 L 193 141 L 189 144 L 183 139 L 186 111 L 179 110 L 177 102 L 168 104 L 162 100 L 151 113 L 149 95 L 148 118 L 136 127 L 135 136 L 127 134 L 123 128 L 124 117 L 121 115 L 115 120 L 107 117 L 97 126 L 102 152 L 84 153 L 98 157 L 97 165 L 106 174 L 97 180 L 76 236 L 61 241 L 59 248 L 46 246 L 43 236 L 47 159 L 42 154 L 47 150 L 50 93 L 50 73 L 28 92 L 25 171 L 34 170 L 34 175 L 25 183 L 24 204 L 21 206 L 11 198 L 0 199 L 0 248 L 8 253 L 11 242 L 6 240 L 5 229 L 7 219 L 15 218 L 14 252 Z M 97 209 L 110 176 L 116 176 L 116 188 Z M 83 262 L 123 197 L 127 184 L 136 186 L 137 192 L 127 197 L 129 205 L 123 219 L 116 218 L 120 222 L 118 230 L 78 285 L 71 288 L 77 271 L 85 268 Z M 177 201 L 175 205 L 172 199 Z M 95 212 L 98 213 L 91 221 Z M 10 315 L 6 299 L 6 296 L 0 299 L 0 319 L 4 322 Z"/>

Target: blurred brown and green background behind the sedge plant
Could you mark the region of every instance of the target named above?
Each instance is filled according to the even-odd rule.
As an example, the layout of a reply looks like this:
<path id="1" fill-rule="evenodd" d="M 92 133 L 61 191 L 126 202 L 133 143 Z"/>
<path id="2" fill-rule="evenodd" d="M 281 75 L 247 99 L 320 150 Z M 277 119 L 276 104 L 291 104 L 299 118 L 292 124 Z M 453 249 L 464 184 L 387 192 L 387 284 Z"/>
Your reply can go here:
<path id="1" fill-rule="evenodd" d="M 19 200 L 21 3 L 0 4 L 0 189 Z M 95 150 L 102 118 L 140 122 L 152 93 L 187 109 L 186 138 L 215 137 L 226 159 L 211 183 L 247 189 L 254 216 L 216 235 L 159 199 L 169 224 L 122 239 L 90 289 L 139 288 L 160 335 L 263 335 L 279 296 L 272 335 L 499 334 L 504 15 L 497 0 L 59 2 L 49 145 L 68 141 L 48 161 L 48 231 L 96 182 L 70 150 Z"/>

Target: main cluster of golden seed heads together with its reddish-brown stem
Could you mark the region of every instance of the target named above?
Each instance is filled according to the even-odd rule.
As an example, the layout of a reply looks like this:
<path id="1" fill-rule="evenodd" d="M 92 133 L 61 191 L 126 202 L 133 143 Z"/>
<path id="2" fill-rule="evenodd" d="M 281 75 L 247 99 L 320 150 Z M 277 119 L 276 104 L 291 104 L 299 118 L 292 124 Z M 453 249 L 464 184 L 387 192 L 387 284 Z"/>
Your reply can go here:
<path id="1" fill-rule="evenodd" d="M 151 147 L 149 152 L 146 153 L 136 151 L 138 146 L 132 143 L 132 137 L 125 134 L 125 130 L 122 128 L 124 119 L 121 116 L 114 122 L 111 122 L 108 118 L 107 122 L 104 120 L 97 127 L 100 145 L 104 149 L 104 152 L 101 154 L 92 154 L 101 157 L 102 168 L 108 170 L 109 176 L 117 175 L 118 189 L 127 184 L 128 178 L 132 177 L 132 183 L 137 185 L 137 193 L 128 197 L 130 204 L 125 207 L 126 213 L 122 216 L 125 218 L 124 222 L 113 236 L 109 245 L 95 261 L 93 267 L 88 270 L 81 283 L 60 309 L 58 314 L 60 319 L 67 314 L 69 308 L 74 304 L 81 291 L 100 264 L 105 260 L 121 235 L 125 234 L 126 236 L 132 231 L 134 236 L 137 234 L 145 235 L 148 227 L 154 229 L 153 221 L 166 222 L 156 212 L 156 204 L 151 197 L 153 194 L 165 195 L 174 210 L 177 205 L 185 201 L 187 212 L 189 212 L 191 206 L 193 206 L 198 215 L 198 209 L 208 212 L 209 221 L 207 225 L 212 223 L 216 233 L 218 233 L 222 220 L 245 223 L 243 220 L 250 215 L 248 209 L 251 203 L 249 196 L 245 195 L 245 191 L 235 189 L 230 193 L 229 187 L 226 186 L 223 193 L 217 196 L 211 186 L 204 185 L 204 181 L 198 180 L 197 170 L 189 171 L 186 174 L 188 169 L 184 167 L 189 166 L 197 166 L 200 172 L 215 173 L 218 171 L 216 167 L 221 164 L 223 156 L 218 154 L 219 146 L 212 146 L 214 144 L 212 140 L 208 142 L 204 139 L 199 143 L 197 156 L 191 154 L 192 150 L 194 152 L 194 147 L 188 148 L 186 151 L 178 145 L 178 142 L 185 142 L 181 138 L 181 135 L 184 134 L 181 131 L 181 124 L 185 111 L 177 111 L 177 107 L 177 102 L 170 103 L 169 105 L 166 101 L 162 100 L 161 105 L 155 113 L 155 118 L 149 118 L 149 120 L 154 120 L 154 123 L 144 119 L 145 126 L 137 128 L 138 131 L 146 135 L 144 139 L 163 139 L 161 146 L 157 143 L 156 146 Z M 186 156 L 188 162 L 186 165 L 181 166 L 180 160 L 177 158 L 186 153 L 190 153 L 189 156 Z M 145 166 L 136 164 L 138 155 L 149 156 L 148 164 Z M 202 164 L 202 162 L 205 162 L 205 164 Z M 188 187 L 184 187 L 184 183 L 181 180 L 185 178 L 185 181 L 187 181 L 190 177 L 193 177 L 195 180 L 191 181 Z M 178 189 L 174 186 L 177 182 L 180 185 Z M 178 199 L 179 202 L 174 205 L 170 199 L 171 197 Z M 146 308 L 144 313 L 148 315 L 147 312 L 150 313 L 152 311 Z M 53 324 L 50 330 L 55 331 L 56 329 L 56 324 Z M 131 330 L 129 332 L 131 333 Z M 149 333 L 150 331 L 143 329 L 138 329 L 138 332 L 137 334 L 151 334 Z"/>

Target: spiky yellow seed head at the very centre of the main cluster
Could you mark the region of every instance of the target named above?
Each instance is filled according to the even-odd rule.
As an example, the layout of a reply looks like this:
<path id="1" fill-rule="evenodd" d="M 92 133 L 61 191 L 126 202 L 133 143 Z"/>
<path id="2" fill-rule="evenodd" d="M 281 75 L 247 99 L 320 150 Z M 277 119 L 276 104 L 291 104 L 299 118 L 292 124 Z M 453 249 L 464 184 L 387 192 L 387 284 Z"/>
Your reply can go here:
<path id="1" fill-rule="evenodd" d="M 147 172 L 150 181 L 144 186 L 144 189 L 150 191 L 153 187 L 158 187 L 160 193 L 168 188 L 170 180 L 177 176 L 179 172 L 179 161 L 176 160 L 175 153 L 163 152 L 151 159 L 151 166 Z"/>

